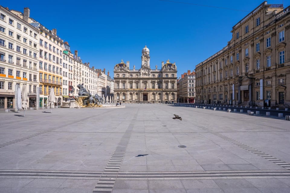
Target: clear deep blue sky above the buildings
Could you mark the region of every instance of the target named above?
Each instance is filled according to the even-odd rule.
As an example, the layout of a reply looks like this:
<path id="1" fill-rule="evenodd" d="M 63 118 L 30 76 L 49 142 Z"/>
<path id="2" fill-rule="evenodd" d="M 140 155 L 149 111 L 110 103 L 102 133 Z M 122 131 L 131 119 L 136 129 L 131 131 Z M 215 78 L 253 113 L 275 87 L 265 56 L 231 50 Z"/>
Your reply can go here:
<path id="1" fill-rule="evenodd" d="M 173 1 L 16 0 L 0 4 L 21 12 L 29 7 L 30 17 L 50 30 L 56 28 L 57 34 L 69 42 L 72 53 L 78 50 L 83 62 L 110 70 L 111 77 L 121 59 L 130 61 L 131 69 L 133 65 L 139 69 L 145 44 L 150 49 L 151 68 L 157 64 L 160 69 L 161 62 L 169 59 L 176 62 L 180 77 L 226 46 L 232 27 L 263 2 Z M 269 0 L 268 4 L 282 2 Z M 290 0 L 283 4 L 286 8 Z"/>

